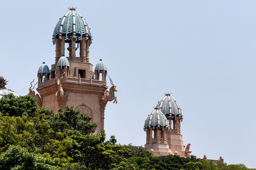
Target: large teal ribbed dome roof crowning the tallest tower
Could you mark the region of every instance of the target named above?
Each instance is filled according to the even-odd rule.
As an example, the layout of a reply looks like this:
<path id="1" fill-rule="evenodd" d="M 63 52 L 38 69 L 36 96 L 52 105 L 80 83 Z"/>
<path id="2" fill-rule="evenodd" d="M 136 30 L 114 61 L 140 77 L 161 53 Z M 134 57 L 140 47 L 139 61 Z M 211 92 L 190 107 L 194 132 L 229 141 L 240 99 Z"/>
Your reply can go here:
<path id="1" fill-rule="evenodd" d="M 76 42 L 86 37 L 86 40 L 90 40 L 89 45 L 92 43 L 89 25 L 73 7 L 69 7 L 69 11 L 59 19 L 53 31 L 52 42 L 55 44 L 56 38 L 61 36 L 65 36 L 65 42 L 71 42 L 70 35 L 76 36 Z"/>

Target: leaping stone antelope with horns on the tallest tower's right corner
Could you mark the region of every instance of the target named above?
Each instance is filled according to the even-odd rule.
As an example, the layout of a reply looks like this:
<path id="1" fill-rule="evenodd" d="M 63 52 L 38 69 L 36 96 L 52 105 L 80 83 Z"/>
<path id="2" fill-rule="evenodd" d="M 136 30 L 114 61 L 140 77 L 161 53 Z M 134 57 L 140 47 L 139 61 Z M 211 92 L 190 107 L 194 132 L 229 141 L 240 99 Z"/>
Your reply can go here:
<path id="1" fill-rule="evenodd" d="M 103 114 L 105 112 L 105 107 L 107 105 L 108 102 L 114 100 L 113 103 L 117 103 L 116 100 L 116 96 L 115 96 L 115 91 L 116 90 L 116 86 L 113 84 L 112 79 L 109 77 L 110 79 L 110 83 L 111 83 L 111 88 L 109 89 L 109 91 L 106 91 L 104 95 L 99 95 L 99 105 L 100 105 L 100 112 Z"/>

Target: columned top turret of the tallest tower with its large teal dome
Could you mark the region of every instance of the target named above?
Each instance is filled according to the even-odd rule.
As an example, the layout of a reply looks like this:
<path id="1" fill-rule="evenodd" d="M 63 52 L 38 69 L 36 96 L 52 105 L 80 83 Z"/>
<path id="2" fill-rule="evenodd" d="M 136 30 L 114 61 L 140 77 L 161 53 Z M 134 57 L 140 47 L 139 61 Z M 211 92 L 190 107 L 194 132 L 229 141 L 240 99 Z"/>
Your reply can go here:
<path id="1" fill-rule="evenodd" d="M 52 42 L 56 44 L 55 63 L 65 55 L 65 42 L 68 43 L 68 57 L 71 57 L 71 61 L 89 62 L 89 46 L 92 43 L 90 28 L 76 8 L 68 9 L 59 19 L 52 35 Z M 76 58 L 78 46 L 80 59 Z"/>

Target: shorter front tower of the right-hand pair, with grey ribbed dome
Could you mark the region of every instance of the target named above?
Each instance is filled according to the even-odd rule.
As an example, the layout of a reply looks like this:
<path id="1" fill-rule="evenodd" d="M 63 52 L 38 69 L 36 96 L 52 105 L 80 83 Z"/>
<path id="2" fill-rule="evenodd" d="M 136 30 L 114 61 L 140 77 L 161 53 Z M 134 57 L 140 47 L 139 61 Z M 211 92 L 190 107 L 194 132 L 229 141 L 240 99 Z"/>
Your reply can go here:
<path id="1" fill-rule="evenodd" d="M 147 150 L 154 152 L 154 155 L 160 156 L 172 153 L 166 138 L 169 130 L 168 120 L 158 108 L 154 108 L 154 111 L 148 115 L 145 120 L 144 130 L 147 134 L 145 144 Z"/>

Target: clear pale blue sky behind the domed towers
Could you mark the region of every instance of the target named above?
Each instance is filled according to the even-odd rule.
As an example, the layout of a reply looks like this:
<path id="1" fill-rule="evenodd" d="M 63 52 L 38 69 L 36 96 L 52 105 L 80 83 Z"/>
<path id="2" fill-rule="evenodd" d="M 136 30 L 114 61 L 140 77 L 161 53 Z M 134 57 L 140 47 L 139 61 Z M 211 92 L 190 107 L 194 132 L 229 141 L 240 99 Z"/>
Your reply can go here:
<path id="1" fill-rule="evenodd" d="M 52 32 L 77 7 L 116 85 L 105 110 L 107 139 L 143 145 L 146 117 L 172 93 L 192 154 L 256 168 L 255 0 L 1 1 L 0 75 L 29 93 L 42 62 L 55 62 Z M 110 82 L 108 81 L 110 87 Z"/>

